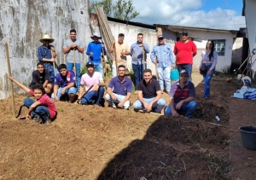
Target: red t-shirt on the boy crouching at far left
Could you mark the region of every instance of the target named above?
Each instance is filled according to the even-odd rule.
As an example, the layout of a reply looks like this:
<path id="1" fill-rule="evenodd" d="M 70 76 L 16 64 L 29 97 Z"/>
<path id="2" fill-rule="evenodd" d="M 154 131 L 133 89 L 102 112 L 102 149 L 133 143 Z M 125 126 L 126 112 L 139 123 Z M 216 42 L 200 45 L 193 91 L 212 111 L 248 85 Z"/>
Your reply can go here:
<path id="1" fill-rule="evenodd" d="M 34 96 L 34 92 L 32 90 L 29 91 L 29 94 Z M 56 116 L 55 102 L 53 102 L 52 99 L 50 99 L 49 96 L 47 96 L 46 94 L 41 96 L 41 98 L 38 99 L 38 102 L 41 102 L 42 106 L 49 109 L 49 119 L 54 119 Z"/>

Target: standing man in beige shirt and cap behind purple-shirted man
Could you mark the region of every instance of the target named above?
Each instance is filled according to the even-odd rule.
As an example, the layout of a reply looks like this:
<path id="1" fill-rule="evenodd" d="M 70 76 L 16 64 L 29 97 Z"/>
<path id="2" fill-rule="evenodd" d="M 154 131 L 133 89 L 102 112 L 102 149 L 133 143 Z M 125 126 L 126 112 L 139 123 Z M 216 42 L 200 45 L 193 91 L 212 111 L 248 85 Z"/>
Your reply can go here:
<path id="1" fill-rule="evenodd" d="M 114 49 L 115 49 L 115 53 L 116 53 L 116 60 L 113 61 L 112 64 L 112 76 L 115 77 L 117 76 L 117 71 L 116 71 L 116 67 L 118 67 L 119 65 L 124 65 L 125 67 L 127 67 L 127 58 L 126 55 L 130 55 L 130 51 L 128 48 L 128 44 L 126 44 L 124 42 L 125 39 L 125 34 L 123 33 L 119 33 L 119 40 L 116 43 L 115 41 L 112 42 L 111 46 L 110 46 L 110 53 L 113 53 Z M 117 64 L 116 64 L 117 61 Z"/>

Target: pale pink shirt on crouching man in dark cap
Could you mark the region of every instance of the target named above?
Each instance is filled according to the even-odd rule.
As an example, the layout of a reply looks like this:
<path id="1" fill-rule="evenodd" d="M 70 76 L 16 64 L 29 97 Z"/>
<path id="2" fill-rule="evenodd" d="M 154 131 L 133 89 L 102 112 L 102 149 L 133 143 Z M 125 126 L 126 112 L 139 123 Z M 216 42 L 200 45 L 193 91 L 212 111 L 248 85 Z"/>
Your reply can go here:
<path id="1" fill-rule="evenodd" d="M 81 85 L 85 85 L 86 90 L 90 88 L 91 85 L 95 86 L 96 84 L 99 84 L 100 81 L 102 81 L 102 73 L 95 72 L 92 76 L 89 76 L 88 73 L 84 73 L 81 78 Z M 93 89 L 93 88 L 92 88 Z M 90 91 L 92 90 L 90 89 Z"/>

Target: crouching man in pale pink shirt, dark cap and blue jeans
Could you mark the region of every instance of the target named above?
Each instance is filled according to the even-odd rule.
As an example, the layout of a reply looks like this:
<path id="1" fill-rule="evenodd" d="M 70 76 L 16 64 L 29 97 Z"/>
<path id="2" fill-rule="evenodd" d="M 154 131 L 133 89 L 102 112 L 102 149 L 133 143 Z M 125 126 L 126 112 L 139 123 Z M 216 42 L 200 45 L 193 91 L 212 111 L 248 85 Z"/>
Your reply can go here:
<path id="1" fill-rule="evenodd" d="M 86 63 L 87 73 L 84 73 L 81 78 L 81 86 L 79 90 L 79 100 L 82 100 L 82 104 L 96 104 L 103 106 L 102 97 L 104 95 L 104 81 L 102 73 L 94 71 L 94 64 L 92 62 Z M 84 86 L 86 90 L 89 90 L 84 96 Z"/>

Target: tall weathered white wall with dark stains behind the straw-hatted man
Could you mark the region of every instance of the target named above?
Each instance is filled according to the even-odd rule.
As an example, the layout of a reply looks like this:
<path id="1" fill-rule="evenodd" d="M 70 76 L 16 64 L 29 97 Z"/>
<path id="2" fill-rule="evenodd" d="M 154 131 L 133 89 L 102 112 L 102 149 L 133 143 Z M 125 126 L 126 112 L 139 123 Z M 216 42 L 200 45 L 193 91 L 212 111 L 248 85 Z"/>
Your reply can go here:
<path id="1" fill-rule="evenodd" d="M 77 30 L 78 38 L 88 43 L 87 0 L 0 0 L 0 99 L 10 96 L 8 67 L 4 44 L 9 44 L 12 75 L 28 85 L 32 71 L 38 63 L 39 39 L 44 33 L 55 38 L 58 64 L 65 62 L 62 53 L 64 40 L 69 38 L 70 29 Z M 81 13 L 83 11 L 83 14 Z M 82 63 L 86 56 L 81 58 Z M 22 92 L 15 85 L 15 93 Z"/>

